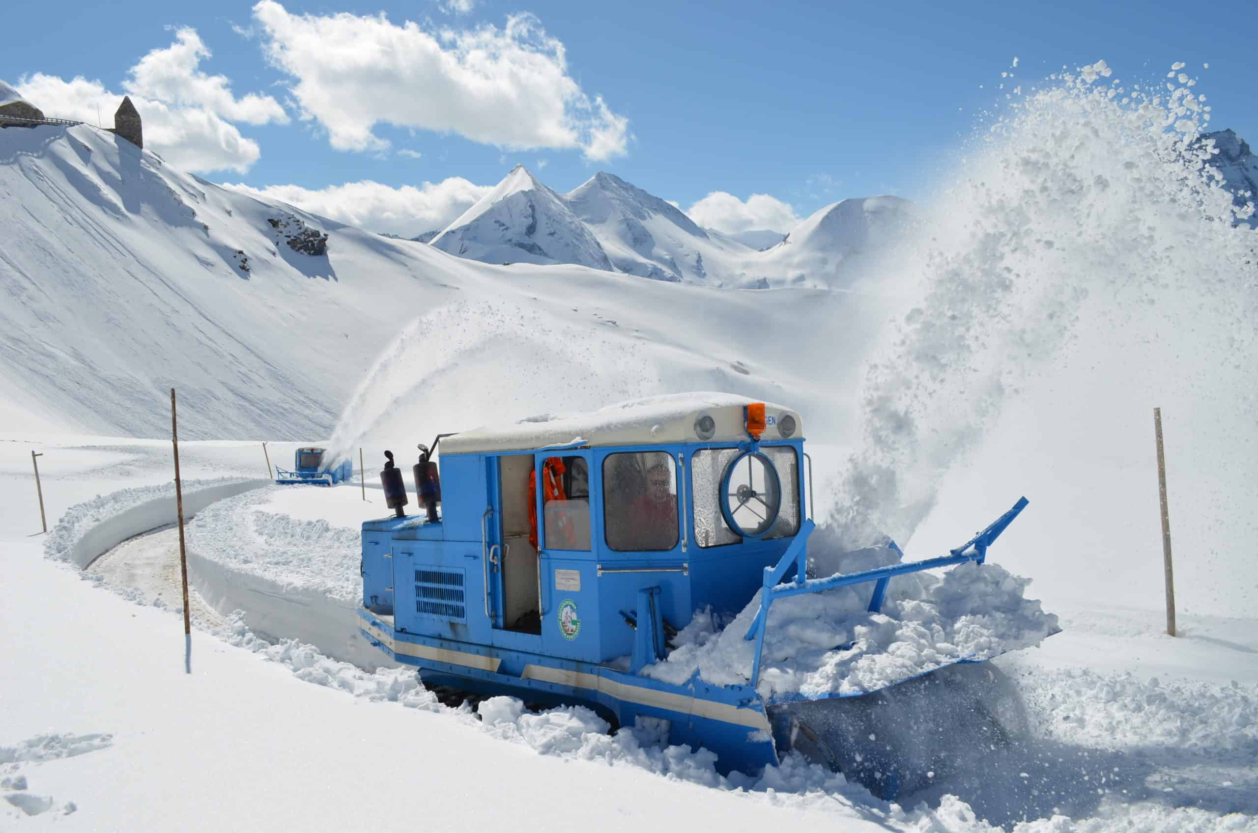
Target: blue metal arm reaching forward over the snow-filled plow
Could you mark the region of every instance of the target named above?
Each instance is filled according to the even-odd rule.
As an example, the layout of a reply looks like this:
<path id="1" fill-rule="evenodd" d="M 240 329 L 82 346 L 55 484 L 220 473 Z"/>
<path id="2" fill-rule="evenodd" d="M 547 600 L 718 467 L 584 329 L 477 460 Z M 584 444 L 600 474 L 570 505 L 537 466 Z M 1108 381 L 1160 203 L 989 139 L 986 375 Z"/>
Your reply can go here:
<path id="1" fill-rule="evenodd" d="M 1001 515 L 990 526 L 961 546 L 955 550 L 949 550 L 949 555 L 937 559 L 926 559 L 925 561 L 892 564 L 876 570 L 838 574 L 825 579 L 808 578 L 808 550 L 805 544 L 808 542 L 808 536 L 813 534 L 815 523 L 813 523 L 811 520 L 804 521 L 799 534 L 782 554 L 777 566 L 765 567 L 764 589 L 760 594 L 760 610 L 756 613 L 756 619 L 751 623 L 751 628 L 747 629 L 747 635 L 743 637 L 743 639 L 747 640 L 756 640 L 756 658 L 751 667 L 751 687 L 755 688 L 760 679 L 760 654 L 765 646 L 765 622 L 769 618 L 769 608 L 772 605 L 774 599 L 800 595 L 804 593 L 821 593 L 823 590 L 842 588 L 849 584 L 876 581 L 877 584 L 874 584 L 873 596 L 869 599 L 868 609 L 877 613 L 882 609 L 882 601 L 887 593 L 887 583 L 892 576 L 920 573 L 922 570 L 932 570 L 935 567 L 946 567 L 955 564 L 965 564 L 966 561 L 977 561 L 979 564 L 982 564 L 988 557 L 988 547 L 991 546 L 998 537 L 1000 537 L 1000 534 L 1005 531 L 1005 527 L 1008 527 L 1013 520 L 1018 517 L 1018 513 L 1027 507 L 1027 503 L 1028 501 L 1025 497 L 1018 498 L 1018 502 L 1014 503 L 1011 510 Z M 795 580 L 793 583 L 780 584 L 793 564 L 795 565 Z"/>

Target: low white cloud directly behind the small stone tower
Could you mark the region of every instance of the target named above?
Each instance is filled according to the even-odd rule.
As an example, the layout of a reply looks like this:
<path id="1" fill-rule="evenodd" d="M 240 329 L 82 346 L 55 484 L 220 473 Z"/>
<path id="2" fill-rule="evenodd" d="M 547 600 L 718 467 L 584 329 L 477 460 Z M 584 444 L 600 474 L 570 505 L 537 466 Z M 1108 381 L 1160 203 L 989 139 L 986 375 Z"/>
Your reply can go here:
<path id="1" fill-rule="evenodd" d="M 121 94 L 109 92 L 99 81 L 82 77 L 64 81 L 35 73 L 29 78 L 23 75 L 18 89 L 48 116 L 96 125 L 99 113 L 106 127 L 113 125 L 113 113 L 122 103 Z M 171 107 L 143 96 L 132 96 L 131 102 L 143 120 L 145 147 L 176 167 L 244 174 L 262 155 L 257 142 L 208 109 Z"/>

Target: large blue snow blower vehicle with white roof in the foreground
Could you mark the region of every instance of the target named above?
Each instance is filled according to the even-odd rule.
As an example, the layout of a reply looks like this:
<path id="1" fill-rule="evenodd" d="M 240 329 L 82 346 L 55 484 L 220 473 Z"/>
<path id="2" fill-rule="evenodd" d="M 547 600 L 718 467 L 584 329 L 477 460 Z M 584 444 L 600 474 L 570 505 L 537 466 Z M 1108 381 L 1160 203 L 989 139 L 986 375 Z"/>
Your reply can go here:
<path id="1" fill-rule="evenodd" d="M 811 462 L 803 420 L 786 408 L 726 394 L 662 396 L 438 443 L 440 482 L 423 445 L 415 466 L 426 515 L 404 515 L 389 454 L 381 477 L 396 516 L 362 525 L 360 625 L 374 646 L 418 667 L 430 687 L 584 705 L 613 726 L 660 718 L 671 744 L 716 752 L 723 773 L 755 774 L 796 749 L 884 797 L 912 780 L 912 751 L 853 751 L 849 741 L 872 735 L 877 716 L 827 708 L 874 695 L 757 691 L 770 605 L 868 584 L 877 612 L 894 576 L 982 564 L 1027 506 L 1019 500 L 942 557 L 809 579 Z M 642 673 L 665 659 L 696 610 L 728 620 L 761 590 L 743 634 L 755 644 L 746 685 Z"/>

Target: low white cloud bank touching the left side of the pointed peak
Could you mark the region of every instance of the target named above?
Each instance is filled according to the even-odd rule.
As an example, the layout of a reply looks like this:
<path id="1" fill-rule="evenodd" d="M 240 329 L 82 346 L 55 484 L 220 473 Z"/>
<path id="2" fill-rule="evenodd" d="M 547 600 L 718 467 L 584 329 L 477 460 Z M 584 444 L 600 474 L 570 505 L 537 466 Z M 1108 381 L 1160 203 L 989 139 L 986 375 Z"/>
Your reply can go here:
<path id="1" fill-rule="evenodd" d="M 391 187 L 371 180 L 332 185 L 317 191 L 298 185 L 270 185 L 263 189 L 248 185 L 225 185 L 225 187 L 281 200 L 369 232 L 387 232 L 408 238 L 433 229 L 444 229 L 493 190 L 492 185 L 474 185 L 459 176 L 440 182 L 424 182 L 420 187 L 411 185 Z"/>

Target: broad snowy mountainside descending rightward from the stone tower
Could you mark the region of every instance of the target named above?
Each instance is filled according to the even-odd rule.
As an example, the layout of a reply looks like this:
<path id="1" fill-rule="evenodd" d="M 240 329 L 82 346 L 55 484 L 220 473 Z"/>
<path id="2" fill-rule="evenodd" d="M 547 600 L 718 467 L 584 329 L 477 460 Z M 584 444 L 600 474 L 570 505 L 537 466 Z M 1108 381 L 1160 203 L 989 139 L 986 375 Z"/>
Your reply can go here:
<path id="1" fill-rule="evenodd" d="M 443 430 L 682 390 L 784 400 L 784 385 L 837 427 L 850 409 L 828 391 L 859 362 L 828 357 L 859 355 L 878 318 L 850 297 L 457 258 L 221 189 L 86 125 L 0 131 L 0 229 L 11 430 L 165 437 L 177 388 L 190 439 L 326 438 L 418 318 L 426 341 L 395 381 L 448 394 L 426 409 L 450 415 Z M 811 374 L 827 385 L 794 381 Z"/>

